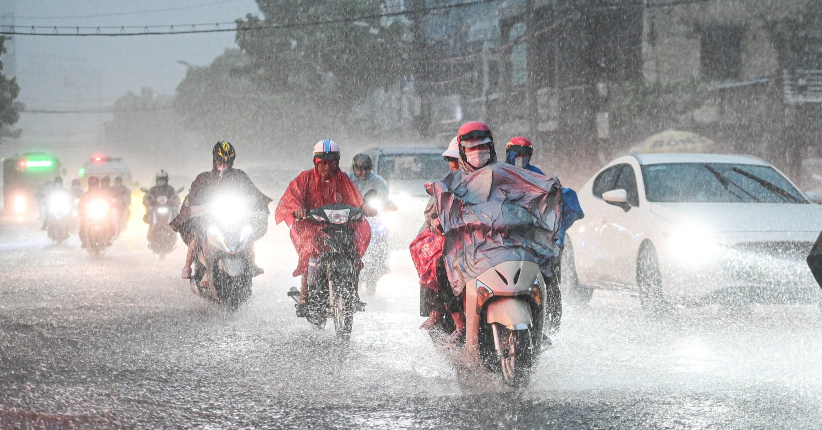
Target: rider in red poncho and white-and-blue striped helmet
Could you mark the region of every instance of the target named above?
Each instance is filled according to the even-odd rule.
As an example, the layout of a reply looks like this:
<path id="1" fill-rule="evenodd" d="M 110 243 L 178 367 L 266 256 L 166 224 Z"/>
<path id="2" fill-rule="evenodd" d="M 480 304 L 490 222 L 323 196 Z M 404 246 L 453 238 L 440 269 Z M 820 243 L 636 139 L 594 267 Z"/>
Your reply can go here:
<path id="1" fill-rule="evenodd" d="M 363 196 L 351 182 L 349 175 L 339 169 L 337 143 L 324 139 L 314 146 L 314 168 L 303 170 L 289 183 L 274 213 L 277 224 L 285 221 L 289 225 L 291 241 L 299 256 L 293 275 L 302 276 L 300 304 L 304 302 L 307 291 L 305 275 L 308 259 L 318 257 L 322 251 L 316 240 L 322 225 L 305 220 L 307 211 L 332 203 L 363 206 Z M 365 209 L 367 215 L 373 212 L 368 206 Z M 371 227 L 367 220 L 353 221 L 351 225 L 357 230 L 359 257 L 363 258 L 371 240 Z"/>

